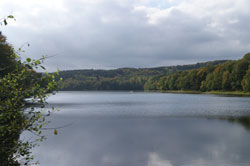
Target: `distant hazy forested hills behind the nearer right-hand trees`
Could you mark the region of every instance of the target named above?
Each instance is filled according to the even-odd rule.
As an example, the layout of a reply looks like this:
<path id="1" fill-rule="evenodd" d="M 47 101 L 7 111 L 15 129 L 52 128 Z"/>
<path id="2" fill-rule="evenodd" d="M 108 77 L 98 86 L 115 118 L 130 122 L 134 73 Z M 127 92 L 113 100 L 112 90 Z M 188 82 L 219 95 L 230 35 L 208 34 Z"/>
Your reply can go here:
<path id="1" fill-rule="evenodd" d="M 144 90 L 145 85 L 150 83 L 149 80 L 158 80 L 166 74 L 215 66 L 225 62 L 225 60 L 220 60 L 192 65 L 139 69 L 70 70 L 61 71 L 59 75 L 63 78 L 61 90 Z M 146 87 L 146 89 L 149 88 Z"/>

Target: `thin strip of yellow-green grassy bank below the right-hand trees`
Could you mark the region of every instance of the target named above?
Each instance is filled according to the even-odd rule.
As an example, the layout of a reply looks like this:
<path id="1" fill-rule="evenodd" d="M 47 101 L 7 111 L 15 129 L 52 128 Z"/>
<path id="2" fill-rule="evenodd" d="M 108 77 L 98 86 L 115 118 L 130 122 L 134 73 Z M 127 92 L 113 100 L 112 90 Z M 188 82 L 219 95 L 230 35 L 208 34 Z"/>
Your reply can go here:
<path id="1" fill-rule="evenodd" d="M 162 91 L 163 93 L 183 93 L 183 94 L 215 94 L 215 95 L 227 95 L 227 96 L 250 96 L 249 92 L 243 91 L 209 91 L 209 92 L 201 92 L 201 91 L 185 91 L 185 90 L 169 90 Z"/>

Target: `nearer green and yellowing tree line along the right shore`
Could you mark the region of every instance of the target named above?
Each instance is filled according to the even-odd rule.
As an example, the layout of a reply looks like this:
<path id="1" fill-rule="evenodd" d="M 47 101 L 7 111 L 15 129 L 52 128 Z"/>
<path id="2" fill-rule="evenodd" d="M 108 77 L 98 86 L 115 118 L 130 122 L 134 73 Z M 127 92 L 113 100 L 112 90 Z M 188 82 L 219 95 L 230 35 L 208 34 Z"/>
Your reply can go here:
<path id="1" fill-rule="evenodd" d="M 250 53 L 236 61 L 151 77 L 144 89 L 250 92 Z"/>

